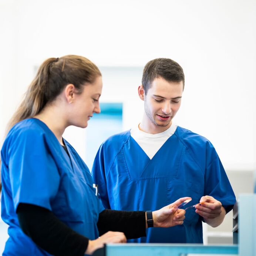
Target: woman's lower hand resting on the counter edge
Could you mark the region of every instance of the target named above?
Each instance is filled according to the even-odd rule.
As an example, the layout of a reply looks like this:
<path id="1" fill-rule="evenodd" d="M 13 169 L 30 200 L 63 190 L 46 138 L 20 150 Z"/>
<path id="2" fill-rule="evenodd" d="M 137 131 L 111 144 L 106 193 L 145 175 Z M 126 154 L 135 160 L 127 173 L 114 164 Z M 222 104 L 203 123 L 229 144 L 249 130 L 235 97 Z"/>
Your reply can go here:
<path id="1" fill-rule="evenodd" d="M 85 254 L 92 254 L 95 250 L 104 247 L 105 243 L 126 243 L 127 239 L 122 232 L 108 231 L 100 238 L 89 240 Z"/>

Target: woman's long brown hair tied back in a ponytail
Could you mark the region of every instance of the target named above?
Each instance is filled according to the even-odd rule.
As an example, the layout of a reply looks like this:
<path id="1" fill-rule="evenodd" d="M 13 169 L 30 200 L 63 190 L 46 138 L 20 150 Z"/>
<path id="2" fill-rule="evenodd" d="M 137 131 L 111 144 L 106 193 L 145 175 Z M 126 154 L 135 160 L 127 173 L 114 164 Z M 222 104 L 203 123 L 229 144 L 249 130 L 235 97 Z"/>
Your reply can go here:
<path id="1" fill-rule="evenodd" d="M 78 93 L 81 93 L 83 85 L 94 82 L 98 76 L 101 76 L 98 67 L 82 56 L 66 55 L 60 58 L 48 58 L 38 68 L 36 77 L 28 87 L 23 101 L 7 125 L 6 133 L 17 122 L 40 113 L 67 84 L 74 84 Z"/>

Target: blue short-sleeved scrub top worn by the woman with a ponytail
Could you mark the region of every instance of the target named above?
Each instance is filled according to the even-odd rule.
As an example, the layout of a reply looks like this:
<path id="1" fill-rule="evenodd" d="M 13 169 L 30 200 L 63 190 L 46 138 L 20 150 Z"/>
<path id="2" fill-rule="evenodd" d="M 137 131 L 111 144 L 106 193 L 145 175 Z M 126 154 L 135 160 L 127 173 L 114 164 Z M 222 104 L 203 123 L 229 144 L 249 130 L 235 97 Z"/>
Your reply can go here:
<path id="1" fill-rule="evenodd" d="M 1 216 L 10 238 L 3 255 L 49 255 L 20 229 L 19 203 L 47 208 L 74 231 L 98 238 L 98 215 L 104 207 L 89 169 L 64 142 L 70 157 L 46 124 L 35 118 L 19 122 L 7 135 L 1 150 Z"/>

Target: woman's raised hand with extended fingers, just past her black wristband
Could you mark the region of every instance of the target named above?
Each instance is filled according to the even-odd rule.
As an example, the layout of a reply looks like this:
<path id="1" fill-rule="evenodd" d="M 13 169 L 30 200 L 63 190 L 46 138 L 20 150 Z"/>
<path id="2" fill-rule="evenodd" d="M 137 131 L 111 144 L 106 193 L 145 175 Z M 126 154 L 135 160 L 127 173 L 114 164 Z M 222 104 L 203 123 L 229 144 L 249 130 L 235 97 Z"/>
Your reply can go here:
<path id="1" fill-rule="evenodd" d="M 182 225 L 183 220 L 185 219 L 186 211 L 183 209 L 178 209 L 178 206 L 187 199 L 191 198 L 180 198 L 174 203 L 152 212 L 154 227 L 169 228 L 176 225 Z"/>

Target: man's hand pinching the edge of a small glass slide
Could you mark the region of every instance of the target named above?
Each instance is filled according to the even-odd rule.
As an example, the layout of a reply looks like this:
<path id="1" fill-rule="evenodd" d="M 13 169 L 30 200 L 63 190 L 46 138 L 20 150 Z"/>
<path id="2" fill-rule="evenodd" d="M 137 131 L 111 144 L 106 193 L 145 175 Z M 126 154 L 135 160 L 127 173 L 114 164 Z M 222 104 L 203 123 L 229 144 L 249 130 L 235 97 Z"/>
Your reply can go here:
<path id="1" fill-rule="evenodd" d="M 202 196 L 200 203 L 202 203 L 202 205 L 195 206 L 196 213 L 202 216 L 205 222 L 210 226 L 219 226 L 226 214 L 226 210 L 221 202 L 212 196 Z"/>

